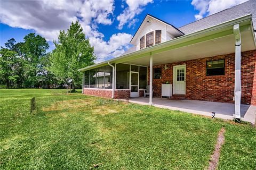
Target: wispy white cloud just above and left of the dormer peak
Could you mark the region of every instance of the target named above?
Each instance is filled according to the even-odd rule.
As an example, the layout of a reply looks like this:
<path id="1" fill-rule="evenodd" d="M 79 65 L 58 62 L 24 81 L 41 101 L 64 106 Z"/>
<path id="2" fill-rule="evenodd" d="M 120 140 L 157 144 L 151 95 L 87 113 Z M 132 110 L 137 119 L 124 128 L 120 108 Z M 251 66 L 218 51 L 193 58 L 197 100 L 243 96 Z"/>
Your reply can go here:
<path id="1" fill-rule="evenodd" d="M 146 6 L 148 3 L 153 3 L 153 0 L 126 0 L 125 2 L 128 7 L 124 9 L 123 13 L 117 16 L 117 20 L 119 21 L 118 29 L 123 29 L 127 22 L 131 21 L 135 15 L 143 11 L 143 6 Z"/>

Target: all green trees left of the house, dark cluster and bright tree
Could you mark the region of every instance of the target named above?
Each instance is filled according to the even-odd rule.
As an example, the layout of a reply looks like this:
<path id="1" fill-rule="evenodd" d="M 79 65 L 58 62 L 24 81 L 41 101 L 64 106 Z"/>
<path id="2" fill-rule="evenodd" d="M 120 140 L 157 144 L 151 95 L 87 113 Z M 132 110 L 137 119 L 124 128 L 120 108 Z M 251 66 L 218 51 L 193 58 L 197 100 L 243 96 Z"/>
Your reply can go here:
<path id="1" fill-rule="evenodd" d="M 14 38 L 7 40 L 0 49 L 0 83 L 7 88 L 49 88 L 72 78 L 80 86 L 78 69 L 93 64 L 93 47 L 78 21 L 71 23 L 67 32 L 60 31 L 58 38 L 52 53 L 46 53 L 49 44 L 35 33 L 29 33 L 20 43 Z"/>

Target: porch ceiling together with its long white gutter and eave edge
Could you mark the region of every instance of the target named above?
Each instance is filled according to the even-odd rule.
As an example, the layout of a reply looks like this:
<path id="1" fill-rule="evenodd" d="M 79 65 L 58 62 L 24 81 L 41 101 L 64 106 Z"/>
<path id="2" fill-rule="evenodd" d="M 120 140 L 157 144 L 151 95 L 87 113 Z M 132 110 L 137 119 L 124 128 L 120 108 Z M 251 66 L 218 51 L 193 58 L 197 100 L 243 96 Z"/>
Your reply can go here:
<path id="1" fill-rule="evenodd" d="M 94 69 L 108 65 L 108 63 L 130 63 L 148 66 L 150 54 L 153 55 L 153 65 L 157 65 L 234 53 L 235 37 L 233 26 L 237 23 L 239 23 L 241 29 L 242 52 L 255 49 L 252 17 L 251 15 L 246 15 L 102 63 L 90 65 L 78 71 Z"/>

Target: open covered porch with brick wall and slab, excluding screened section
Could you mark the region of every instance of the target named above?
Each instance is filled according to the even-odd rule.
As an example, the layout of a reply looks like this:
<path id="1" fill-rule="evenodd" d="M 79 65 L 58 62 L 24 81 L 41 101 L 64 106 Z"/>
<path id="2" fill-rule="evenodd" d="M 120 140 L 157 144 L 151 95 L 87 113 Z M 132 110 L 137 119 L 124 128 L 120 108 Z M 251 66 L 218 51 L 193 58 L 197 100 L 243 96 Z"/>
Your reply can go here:
<path id="1" fill-rule="evenodd" d="M 242 118 L 254 123 L 255 108 L 249 106 L 254 102 L 252 50 L 255 50 L 255 35 L 250 16 L 244 16 L 173 39 L 165 47 L 156 46 L 145 55 L 125 58 L 120 62 L 149 68 L 149 99 L 129 101 L 207 116 L 215 111 L 216 117 L 238 121 Z M 252 63 L 247 62 L 249 58 Z M 218 73 L 211 74 L 208 68 L 214 64 Z M 162 73 L 159 78 L 155 74 L 157 68 Z M 165 83 L 172 84 L 172 96 L 186 100 L 153 98 L 163 96 L 161 89 Z"/>

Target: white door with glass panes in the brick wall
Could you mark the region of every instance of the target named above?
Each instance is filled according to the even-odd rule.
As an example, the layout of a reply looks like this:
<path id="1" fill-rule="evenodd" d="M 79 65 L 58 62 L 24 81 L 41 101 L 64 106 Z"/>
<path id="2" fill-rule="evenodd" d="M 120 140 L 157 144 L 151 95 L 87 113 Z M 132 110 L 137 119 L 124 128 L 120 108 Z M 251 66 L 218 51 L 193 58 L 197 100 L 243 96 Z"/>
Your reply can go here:
<path id="1" fill-rule="evenodd" d="M 173 66 L 174 94 L 186 94 L 186 65 Z"/>

